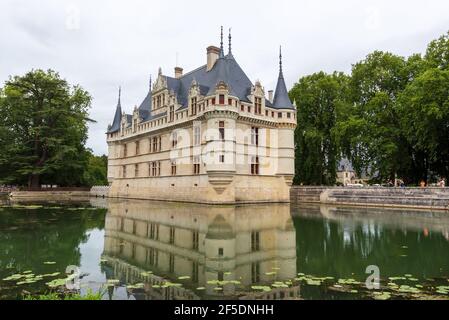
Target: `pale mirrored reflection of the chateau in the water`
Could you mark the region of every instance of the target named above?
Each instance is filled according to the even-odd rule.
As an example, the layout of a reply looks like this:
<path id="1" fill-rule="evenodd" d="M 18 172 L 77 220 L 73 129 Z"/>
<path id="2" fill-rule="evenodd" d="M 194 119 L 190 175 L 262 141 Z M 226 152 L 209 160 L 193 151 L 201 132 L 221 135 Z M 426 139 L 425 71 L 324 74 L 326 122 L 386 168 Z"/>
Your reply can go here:
<path id="1" fill-rule="evenodd" d="M 288 204 L 109 200 L 107 206 L 103 268 L 123 284 L 143 283 L 139 299 L 299 298 L 299 286 L 251 289 L 297 274 Z M 183 285 L 161 286 L 167 281 Z"/>

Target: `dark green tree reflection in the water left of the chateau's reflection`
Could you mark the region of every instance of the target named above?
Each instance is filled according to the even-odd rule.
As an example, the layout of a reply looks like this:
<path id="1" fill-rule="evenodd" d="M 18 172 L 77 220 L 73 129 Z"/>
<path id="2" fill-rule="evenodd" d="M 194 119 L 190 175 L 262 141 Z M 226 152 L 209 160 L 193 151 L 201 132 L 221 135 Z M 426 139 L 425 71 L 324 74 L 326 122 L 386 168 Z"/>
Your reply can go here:
<path id="1" fill-rule="evenodd" d="M 104 227 L 106 210 L 9 209 L 0 214 L 0 272 L 12 264 L 17 271 L 65 271 L 79 265 L 79 246 L 87 230 Z M 54 261 L 55 265 L 44 265 Z"/>

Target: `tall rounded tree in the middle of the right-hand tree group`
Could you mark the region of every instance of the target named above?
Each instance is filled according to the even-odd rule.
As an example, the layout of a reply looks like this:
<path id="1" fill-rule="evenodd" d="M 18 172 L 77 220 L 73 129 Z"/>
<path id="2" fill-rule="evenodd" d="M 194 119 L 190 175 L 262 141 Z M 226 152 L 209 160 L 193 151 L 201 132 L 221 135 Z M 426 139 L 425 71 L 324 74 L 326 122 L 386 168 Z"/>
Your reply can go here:
<path id="1" fill-rule="evenodd" d="M 416 62 L 417 57 L 412 60 Z M 415 68 L 399 56 L 375 51 L 352 68 L 346 116 L 339 119 L 339 141 L 360 174 L 394 180 L 408 173 L 410 154 L 397 110 L 398 95 Z"/>

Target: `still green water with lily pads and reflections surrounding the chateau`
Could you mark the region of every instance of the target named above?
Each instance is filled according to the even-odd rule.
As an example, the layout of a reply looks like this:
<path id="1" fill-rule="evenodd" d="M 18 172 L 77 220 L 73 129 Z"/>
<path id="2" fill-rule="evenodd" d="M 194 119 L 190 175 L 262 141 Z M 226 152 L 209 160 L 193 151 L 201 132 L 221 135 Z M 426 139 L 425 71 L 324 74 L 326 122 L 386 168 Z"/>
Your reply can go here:
<path id="1" fill-rule="evenodd" d="M 0 299 L 65 288 L 71 270 L 104 299 L 447 299 L 449 213 L 4 202 Z"/>

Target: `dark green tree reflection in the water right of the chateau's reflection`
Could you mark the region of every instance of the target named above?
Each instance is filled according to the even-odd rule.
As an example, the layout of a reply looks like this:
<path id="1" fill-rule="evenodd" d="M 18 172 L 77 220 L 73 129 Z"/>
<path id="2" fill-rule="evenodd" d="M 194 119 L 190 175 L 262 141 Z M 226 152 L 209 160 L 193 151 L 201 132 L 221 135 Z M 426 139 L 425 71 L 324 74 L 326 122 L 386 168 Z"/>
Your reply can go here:
<path id="1" fill-rule="evenodd" d="M 439 232 L 424 236 L 422 231 L 385 226 L 372 217 L 363 222 L 299 214 L 294 223 L 300 272 L 364 279 L 366 267 L 373 264 L 383 277 L 404 273 L 435 277 L 449 266 L 449 242 Z"/>

